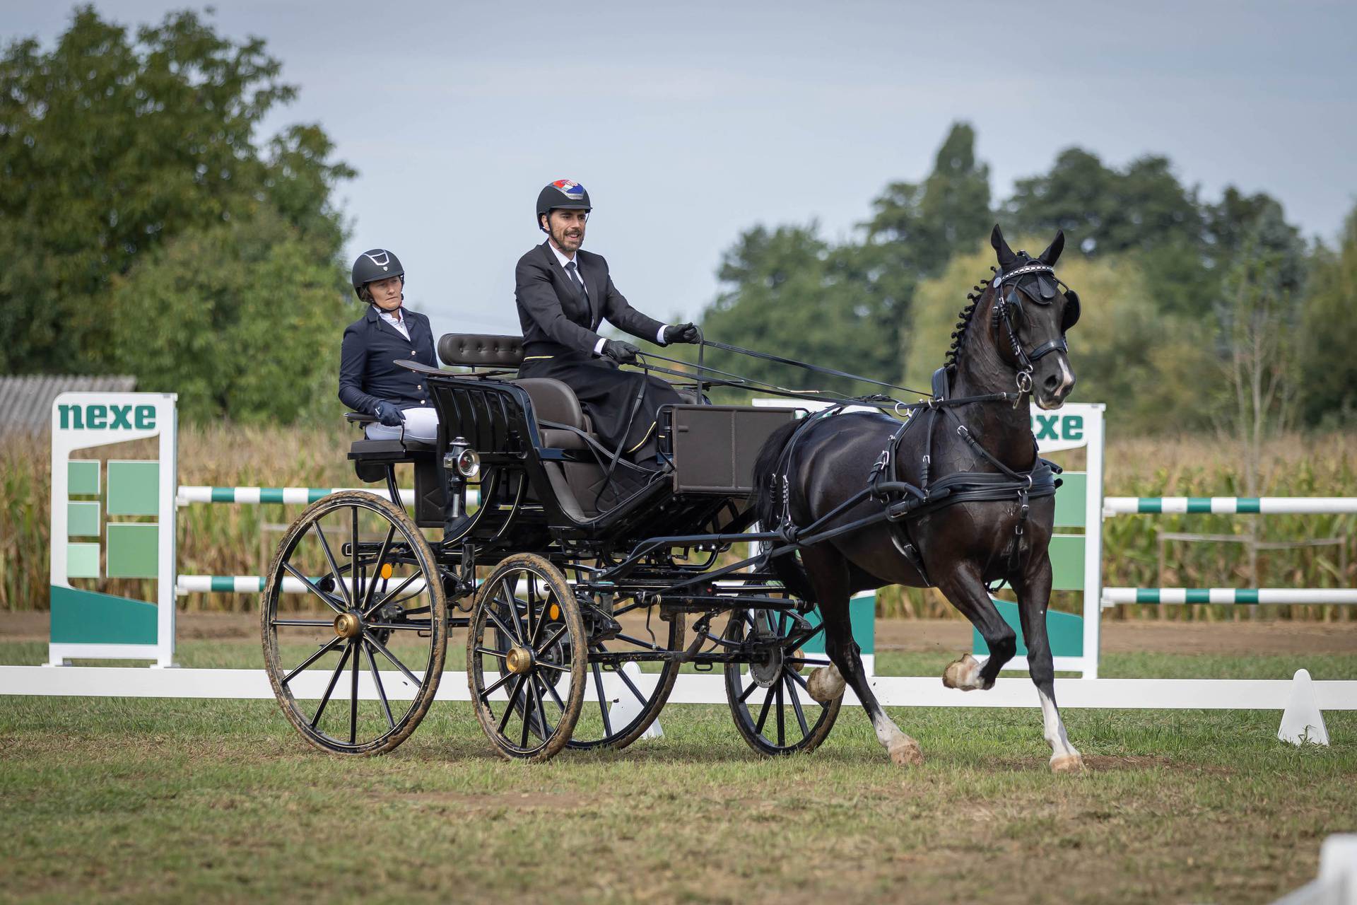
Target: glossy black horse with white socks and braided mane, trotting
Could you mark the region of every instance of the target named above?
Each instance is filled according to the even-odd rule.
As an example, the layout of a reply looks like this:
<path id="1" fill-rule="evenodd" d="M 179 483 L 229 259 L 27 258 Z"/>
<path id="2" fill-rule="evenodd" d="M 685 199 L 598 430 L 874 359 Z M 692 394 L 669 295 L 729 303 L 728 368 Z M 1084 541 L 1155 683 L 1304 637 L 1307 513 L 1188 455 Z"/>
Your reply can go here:
<path id="1" fill-rule="evenodd" d="M 788 425 L 768 440 L 754 467 L 764 531 L 786 531 L 788 521 L 810 525 L 882 469 L 889 480 L 928 487 L 930 480 L 936 486 L 959 475 L 981 475 L 970 479 L 976 482 L 1007 480 L 1010 486 L 1016 479 L 1020 486 L 1023 476 L 1042 468 L 1029 425 L 1030 399 L 1041 408 L 1056 408 L 1075 385 L 1064 335 L 1079 319 L 1079 297 L 1063 288 L 1052 270 L 1064 242 L 1064 233 L 1057 233 L 1046 251 L 1031 258 L 1015 254 L 995 227 L 991 244 L 999 256 L 997 273 L 982 284 L 978 296 L 968 296 L 970 304 L 961 312 L 947 364 L 934 379 L 935 395 L 1007 392 L 1015 402 L 991 399 L 936 412 L 923 410 L 905 429 L 879 414 L 822 417 L 799 431 L 797 423 Z M 889 453 L 883 456 L 883 450 Z M 1046 487 L 1053 494 L 1049 472 Z M 886 505 L 864 499 L 824 528 L 878 514 Z M 832 700 L 843 693 L 847 680 L 892 760 L 900 765 L 923 763 L 919 744 L 886 716 L 867 685 L 852 640 L 848 597 L 885 585 L 935 585 L 980 630 L 991 651 L 985 661 L 963 654 L 943 672 L 943 684 L 984 689 L 993 687 L 999 670 L 1016 651 L 1014 631 L 987 588 L 1003 579 L 1018 594 L 1029 670 L 1052 748 L 1050 768 L 1080 769 L 1083 760 L 1065 737 L 1056 708 L 1046 638 L 1046 548 L 1053 521 L 1053 495 L 1029 498 L 1018 491 L 1008 499 L 921 505 L 896 524 L 878 522 L 805 547 L 799 564 L 790 555 L 773 558 L 783 583 L 814 600 L 824 619 L 833 665 L 810 676 L 811 696 Z"/>

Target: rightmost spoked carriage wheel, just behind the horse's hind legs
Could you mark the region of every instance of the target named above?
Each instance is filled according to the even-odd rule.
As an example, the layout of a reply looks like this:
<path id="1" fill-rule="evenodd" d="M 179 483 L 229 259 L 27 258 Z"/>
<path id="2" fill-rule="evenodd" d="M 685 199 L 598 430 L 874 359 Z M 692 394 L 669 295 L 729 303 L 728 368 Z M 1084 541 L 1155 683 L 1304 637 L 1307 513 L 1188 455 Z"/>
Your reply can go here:
<path id="1" fill-rule="evenodd" d="M 752 661 L 726 663 L 726 700 L 735 729 L 761 754 L 792 754 L 820 746 L 833 729 L 843 695 L 821 704 L 806 693 L 806 677 L 828 657 L 792 647 L 795 620 L 772 609 L 735 609 L 727 642 L 750 642 Z"/>

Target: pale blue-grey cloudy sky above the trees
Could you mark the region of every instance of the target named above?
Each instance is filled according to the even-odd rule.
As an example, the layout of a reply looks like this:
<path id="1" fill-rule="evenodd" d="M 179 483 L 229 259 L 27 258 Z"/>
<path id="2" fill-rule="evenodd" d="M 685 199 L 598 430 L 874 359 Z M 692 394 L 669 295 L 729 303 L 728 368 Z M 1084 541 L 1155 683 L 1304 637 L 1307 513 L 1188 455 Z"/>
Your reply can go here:
<path id="1" fill-rule="evenodd" d="M 95 5 L 137 24 L 189 4 Z M 71 9 L 7 0 L 0 39 L 50 46 Z M 436 335 L 518 332 L 514 262 L 560 178 L 592 197 L 585 248 L 670 322 L 715 299 L 723 251 L 756 224 L 851 237 L 889 182 L 927 175 L 955 121 L 976 128 L 996 198 L 1077 145 L 1118 167 L 1166 155 L 1208 199 L 1266 191 L 1330 242 L 1357 202 L 1350 0 L 214 9 L 300 88 L 263 132 L 319 122 L 358 170 L 338 193 L 349 256 L 395 251 Z"/>

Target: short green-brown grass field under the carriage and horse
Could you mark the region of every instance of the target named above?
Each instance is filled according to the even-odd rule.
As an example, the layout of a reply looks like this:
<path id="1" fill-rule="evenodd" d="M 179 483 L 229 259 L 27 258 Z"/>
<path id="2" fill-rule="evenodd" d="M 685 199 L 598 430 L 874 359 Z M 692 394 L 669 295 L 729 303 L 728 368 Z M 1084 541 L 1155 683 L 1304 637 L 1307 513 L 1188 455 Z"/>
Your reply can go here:
<path id="1" fill-rule="evenodd" d="M 0 662 L 43 653 L 0 642 Z M 878 672 L 951 655 L 883 651 Z M 179 659 L 259 666 L 248 638 Z M 1357 650 L 1105 655 L 1107 676 L 1299 665 L 1353 678 Z M 1048 772 L 1035 710 L 893 716 L 921 768 L 892 767 L 858 708 L 803 757 L 761 760 L 723 707 L 674 706 L 661 739 L 524 767 L 491 756 L 468 704 L 342 758 L 273 701 L 8 697 L 0 901 L 1267 902 L 1357 829 L 1357 712 L 1326 715 L 1331 748 L 1296 749 L 1274 712 L 1072 710 L 1080 776 Z"/>

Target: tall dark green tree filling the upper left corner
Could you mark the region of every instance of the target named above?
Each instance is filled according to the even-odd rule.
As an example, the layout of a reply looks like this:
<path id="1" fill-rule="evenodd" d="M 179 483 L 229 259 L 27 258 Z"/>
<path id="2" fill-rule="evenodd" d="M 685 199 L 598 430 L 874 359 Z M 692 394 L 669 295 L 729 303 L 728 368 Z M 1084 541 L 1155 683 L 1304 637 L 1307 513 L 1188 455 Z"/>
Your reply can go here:
<path id="1" fill-rule="evenodd" d="M 132 37 L 81 7 L 52 50 L 35 39 L 5 50 L 0 243 L 24 254 L 0 271 L 0 370 L 122 366 L 110 289 L 175 236 L 204 251 L 157 259 L 187 269 L 176 280 L 216 270 L 213 228 L 229 243 L 231 224 L 275 214 L 311 243 L 315 262 L 337 258 L 343 231 L 330 191 L 353 171 L 330 161 L 316 126 L 255 144 L 265 114 L 296 95 L 280 71 L 262 39 L 220 37 L 193 12 Z M 286 280 L 274 288 L 304 294 Z M 195 365 L 183 358 L 176 377 L 197 380 Z"/>

